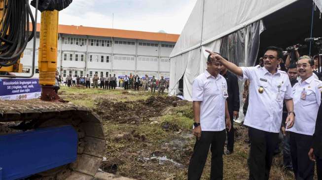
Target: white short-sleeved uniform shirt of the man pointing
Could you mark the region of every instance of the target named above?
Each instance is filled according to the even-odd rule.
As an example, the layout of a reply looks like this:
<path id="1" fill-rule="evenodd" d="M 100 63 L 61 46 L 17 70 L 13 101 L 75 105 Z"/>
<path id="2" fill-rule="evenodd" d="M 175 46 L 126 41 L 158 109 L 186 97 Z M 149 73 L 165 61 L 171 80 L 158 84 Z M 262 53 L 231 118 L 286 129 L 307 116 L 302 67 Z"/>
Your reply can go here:
<path id="1" fill-rule="evenodd" d="M 292 86 L 286 72 L 272 75 L 265 67 L 241 67 L 243 77 L 249 79 L 249 106 L 244 124 L 259 130 L 279 133 L 282 123 L 283 101 L 292 99 Z M 258 89 L 262 87 L 263 92 Z"/>

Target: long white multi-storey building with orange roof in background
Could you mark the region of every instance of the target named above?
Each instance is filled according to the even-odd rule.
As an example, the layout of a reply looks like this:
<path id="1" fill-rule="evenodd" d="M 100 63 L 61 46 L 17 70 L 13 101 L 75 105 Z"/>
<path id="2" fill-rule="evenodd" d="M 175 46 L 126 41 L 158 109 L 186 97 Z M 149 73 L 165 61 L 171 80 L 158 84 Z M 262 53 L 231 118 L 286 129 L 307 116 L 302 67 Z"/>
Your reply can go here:
<path id="1" fill-rule="evenodd" d="M 39 25 L 37 31 L 39 31 Z M 68 75 L 145 74 L 170 76 L 170 53 L 179 35 L 59 25 L 58 70 Z M 36 39 L 36 72 L 39 35 Z M 33 40 L 21 59 L 25 72 L 32 69 Z"/>

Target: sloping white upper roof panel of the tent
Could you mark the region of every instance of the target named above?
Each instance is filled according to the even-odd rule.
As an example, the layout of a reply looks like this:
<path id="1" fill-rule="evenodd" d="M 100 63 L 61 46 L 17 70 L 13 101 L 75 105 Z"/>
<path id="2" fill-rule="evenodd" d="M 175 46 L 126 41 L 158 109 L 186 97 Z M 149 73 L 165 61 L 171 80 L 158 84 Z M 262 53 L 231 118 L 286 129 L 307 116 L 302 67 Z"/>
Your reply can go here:
<path id="1" fill-rule="evenodd" d="M 170 57 L 198 48 L 199 43 L 211 43 L 295 1 L 198 0 Z M 322 4 L 322 0 L 315 1 Z"/>

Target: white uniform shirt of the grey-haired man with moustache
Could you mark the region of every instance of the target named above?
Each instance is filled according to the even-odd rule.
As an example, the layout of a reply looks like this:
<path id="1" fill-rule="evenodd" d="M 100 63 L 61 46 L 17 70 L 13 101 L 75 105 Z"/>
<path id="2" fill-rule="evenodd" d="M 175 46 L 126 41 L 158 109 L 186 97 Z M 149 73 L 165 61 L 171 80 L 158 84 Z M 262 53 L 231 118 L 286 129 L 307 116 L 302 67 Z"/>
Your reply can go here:
<path id="1" fill-rule="evenodd" d="M 312 136 L 315 131 L 315 123 L 318 110 L 321 104 L 322 82 L 309 77 L 302 82 L 300 80 L 293 86 L 293 100 L 295 122 L 292 128 L 287 131 Z M 305 99 L 301 99 L 302 92 L 305 92 Z"/>

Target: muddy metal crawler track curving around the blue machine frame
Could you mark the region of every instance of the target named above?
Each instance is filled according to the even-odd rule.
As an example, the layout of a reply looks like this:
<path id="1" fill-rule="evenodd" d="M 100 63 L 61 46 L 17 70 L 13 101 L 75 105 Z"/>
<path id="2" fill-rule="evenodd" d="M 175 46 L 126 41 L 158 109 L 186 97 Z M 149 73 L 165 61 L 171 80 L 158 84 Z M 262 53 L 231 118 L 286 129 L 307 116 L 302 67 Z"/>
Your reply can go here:
<path id="1" fill-rule="evenodd" d="M 76 161 L 39 173 L 33 176 L 34 179 L 92 180 L 94 178 L 105 151 L 102 124 L 95 113 L 88 108 L 70 103 L 39 99 L 0 100 L 0 135 L 16 133 L 17 130 L 11 130 L 9 126 L 18 122 L 29 122 L 27 123 L 30 124 L 29 129 L 72 125 L 78 134 Z"/>

